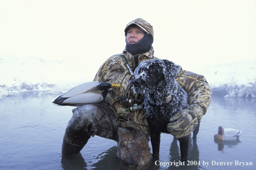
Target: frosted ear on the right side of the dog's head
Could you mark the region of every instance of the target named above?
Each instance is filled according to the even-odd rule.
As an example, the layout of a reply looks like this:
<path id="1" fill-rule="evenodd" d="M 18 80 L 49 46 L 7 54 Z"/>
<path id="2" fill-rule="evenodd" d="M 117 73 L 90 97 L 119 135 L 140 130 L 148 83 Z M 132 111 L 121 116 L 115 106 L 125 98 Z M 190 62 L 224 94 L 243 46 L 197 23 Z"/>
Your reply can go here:
<path id="1" fill-rule="evenodd" d="M 164 59 L 164 64 L 165 64 L 165 74 L 164 74 L 164 78 L 167 81 L 171 81 L 172 79 L 174 79 L 177 74 L 180 72 L 181 67 L 177 64 L 174 64 L 173 62 Z"/>

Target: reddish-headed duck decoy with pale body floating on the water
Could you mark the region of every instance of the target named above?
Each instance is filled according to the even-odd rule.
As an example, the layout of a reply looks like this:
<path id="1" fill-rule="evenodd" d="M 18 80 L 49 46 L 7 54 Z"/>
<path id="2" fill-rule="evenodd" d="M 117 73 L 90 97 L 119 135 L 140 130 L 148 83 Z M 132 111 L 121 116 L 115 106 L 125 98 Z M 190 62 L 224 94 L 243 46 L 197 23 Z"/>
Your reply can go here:
<path id="1" fill-rule="evenodd" d="M 214 135 L 216 140 L 237 140 L 242 134 L 241 131 L 236 129 L 224 129 L 222 126 L 218 127 L 218 133 Z"/>

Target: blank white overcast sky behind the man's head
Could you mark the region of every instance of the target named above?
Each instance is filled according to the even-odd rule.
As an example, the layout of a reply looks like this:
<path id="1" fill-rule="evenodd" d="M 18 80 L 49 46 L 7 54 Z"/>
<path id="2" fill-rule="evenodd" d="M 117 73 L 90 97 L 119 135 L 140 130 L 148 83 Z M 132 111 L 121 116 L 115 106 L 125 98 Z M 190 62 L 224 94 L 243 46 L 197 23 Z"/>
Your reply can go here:
<path id="1" fill-rule="evenodd" d="M 0 0 L 0 56 L 99 67 L 135 18 L 152 24 L 155 56 L 184 70 L 256 58 L 255 0 Z"/>

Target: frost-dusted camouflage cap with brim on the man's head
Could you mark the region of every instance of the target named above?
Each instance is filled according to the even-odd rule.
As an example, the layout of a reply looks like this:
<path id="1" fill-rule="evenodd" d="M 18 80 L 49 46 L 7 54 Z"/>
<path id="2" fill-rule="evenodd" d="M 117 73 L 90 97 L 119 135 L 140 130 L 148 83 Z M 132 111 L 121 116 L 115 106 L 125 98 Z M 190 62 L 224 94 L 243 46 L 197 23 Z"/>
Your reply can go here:
<path id="1" fill-rule="evenodd" d="M 147 34 L 151 34 L 152 37 L 154 37 L 154 30 L 151 24 L 149 24 L 149 22 L 145 21 L 142 18 L 137 18 L 133 21 L 131 21 L 129 24 L 126 25 L 124 32 L 125 32 L 125 36 L 127 35 L 127 31 L 129 30 L 130 27 L 132 27 L 133 25 L 138 26 L 140 29 L 142 29 L 145 33 Z"/>

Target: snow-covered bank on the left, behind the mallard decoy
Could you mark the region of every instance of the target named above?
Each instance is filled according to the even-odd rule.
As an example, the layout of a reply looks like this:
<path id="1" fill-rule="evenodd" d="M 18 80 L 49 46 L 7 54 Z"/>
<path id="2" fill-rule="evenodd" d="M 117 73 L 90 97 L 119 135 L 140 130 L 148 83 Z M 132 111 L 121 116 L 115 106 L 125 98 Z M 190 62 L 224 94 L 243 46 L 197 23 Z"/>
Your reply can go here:
<path id="1" fill-rule="evenodd" d="M 0 55 L 0 98 L 25 91 L 63 93 L 92 81 L 86 63 L 47 61 Z"/>

